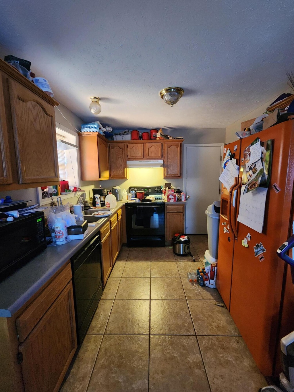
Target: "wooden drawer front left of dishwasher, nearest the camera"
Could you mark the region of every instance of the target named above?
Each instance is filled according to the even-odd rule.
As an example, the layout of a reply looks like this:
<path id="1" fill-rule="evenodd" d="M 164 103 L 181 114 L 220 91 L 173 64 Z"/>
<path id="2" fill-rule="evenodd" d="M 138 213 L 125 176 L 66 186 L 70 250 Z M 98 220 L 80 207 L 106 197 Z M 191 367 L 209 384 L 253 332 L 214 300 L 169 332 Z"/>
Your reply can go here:
<path id="1" fill-rule="evenodd" d="M 29 305 L 24 313 L 16 319 L 16 328 L 20 342 L 27 337 L 38 321 L 44 316 L 45 312 L 47 312 L 71 278 L 71 264 L 69 263 L 33 303 Z"/>

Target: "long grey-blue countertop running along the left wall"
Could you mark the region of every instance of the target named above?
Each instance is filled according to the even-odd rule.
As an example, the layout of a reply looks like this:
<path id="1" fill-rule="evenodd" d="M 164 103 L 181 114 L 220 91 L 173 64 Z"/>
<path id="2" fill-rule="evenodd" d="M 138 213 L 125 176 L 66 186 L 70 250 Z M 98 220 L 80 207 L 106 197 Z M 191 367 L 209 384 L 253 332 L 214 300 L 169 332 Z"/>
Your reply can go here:
<path id="1" fill-rule="evenodd" d="M 0 283 L 0 317 L 11 317 L 106 223 L 123 203 L 118 202 L 110 216 L 89 226 L 83 240 L 64 245 L 50 244 L 33 260 Z"/>

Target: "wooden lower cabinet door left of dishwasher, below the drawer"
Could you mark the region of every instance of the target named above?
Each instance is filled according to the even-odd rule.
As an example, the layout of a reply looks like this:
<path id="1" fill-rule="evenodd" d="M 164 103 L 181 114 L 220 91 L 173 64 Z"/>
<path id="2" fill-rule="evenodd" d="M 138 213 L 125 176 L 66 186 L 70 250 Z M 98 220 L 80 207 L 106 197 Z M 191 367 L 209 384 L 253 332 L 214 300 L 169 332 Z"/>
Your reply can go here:
<path id="1" fill-rule="evenodd" d="M 73 285 L 69 282 L 19 346 L 25 391 L 58 391 L 76 347 Z"/>

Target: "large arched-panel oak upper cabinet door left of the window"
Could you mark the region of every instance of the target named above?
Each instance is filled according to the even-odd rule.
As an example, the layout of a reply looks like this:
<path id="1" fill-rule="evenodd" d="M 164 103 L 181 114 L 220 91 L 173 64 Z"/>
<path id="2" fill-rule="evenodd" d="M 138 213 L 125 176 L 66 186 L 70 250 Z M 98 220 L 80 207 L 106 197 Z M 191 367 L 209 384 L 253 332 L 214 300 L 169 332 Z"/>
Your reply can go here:
<path id="1" fill-rule="evenodd" d="M 9 80 L 19 183 L 58 181 L 54 107 Z"/>

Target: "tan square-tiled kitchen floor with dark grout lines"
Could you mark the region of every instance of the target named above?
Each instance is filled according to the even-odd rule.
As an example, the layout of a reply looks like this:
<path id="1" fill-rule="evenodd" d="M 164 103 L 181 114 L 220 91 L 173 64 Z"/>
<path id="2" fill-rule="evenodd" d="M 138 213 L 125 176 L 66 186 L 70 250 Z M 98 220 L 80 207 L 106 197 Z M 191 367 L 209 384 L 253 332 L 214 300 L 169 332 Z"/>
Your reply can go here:
<path id="1" fill-rule="evenodd" d="M 257 392 L 267 385 L 216 289 L 191 285 L 188 256 L 123 247 L 62 392 Z"/>

